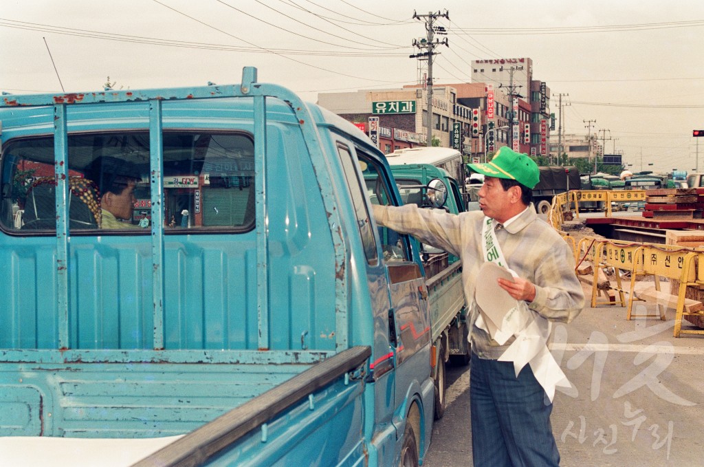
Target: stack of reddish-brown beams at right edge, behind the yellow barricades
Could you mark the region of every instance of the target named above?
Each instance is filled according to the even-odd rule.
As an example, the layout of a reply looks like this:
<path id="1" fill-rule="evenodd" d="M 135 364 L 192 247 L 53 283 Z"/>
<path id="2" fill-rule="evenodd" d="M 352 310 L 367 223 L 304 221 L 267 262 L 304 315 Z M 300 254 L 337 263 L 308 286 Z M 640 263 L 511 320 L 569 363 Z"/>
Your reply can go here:
<path id="1" fill-rule="evenodd" d="M 643 217 L 701 219 L 704 213 L 704 190 L 697 188 L 646 189 Z M 700 197 L 702 197 L 700 201 Z"/>

